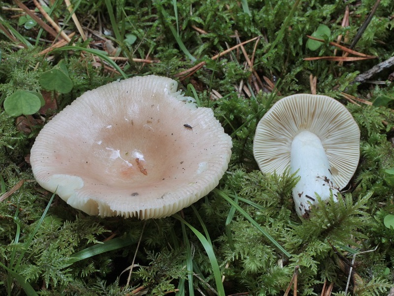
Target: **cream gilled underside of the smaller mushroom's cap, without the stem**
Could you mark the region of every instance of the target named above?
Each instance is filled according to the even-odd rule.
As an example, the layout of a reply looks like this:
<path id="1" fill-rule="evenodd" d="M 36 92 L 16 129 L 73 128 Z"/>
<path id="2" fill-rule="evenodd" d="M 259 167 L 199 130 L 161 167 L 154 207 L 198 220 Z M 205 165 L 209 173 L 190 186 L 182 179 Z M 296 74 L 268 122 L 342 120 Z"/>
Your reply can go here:
<path id="1" fill-rule="evenodd" d="M 256 128 L 253 153 L 263 173 L 283 174 L 290 166 L 296 135 L 309 131 L 319 137 L 329 163 L 332 182 L 349 183 L 360 157 L 360 129 L 338 101 L 320 95 L 296 94 L 276 102 Z M 308 155 L 305 155 L 308 157 Z"/>

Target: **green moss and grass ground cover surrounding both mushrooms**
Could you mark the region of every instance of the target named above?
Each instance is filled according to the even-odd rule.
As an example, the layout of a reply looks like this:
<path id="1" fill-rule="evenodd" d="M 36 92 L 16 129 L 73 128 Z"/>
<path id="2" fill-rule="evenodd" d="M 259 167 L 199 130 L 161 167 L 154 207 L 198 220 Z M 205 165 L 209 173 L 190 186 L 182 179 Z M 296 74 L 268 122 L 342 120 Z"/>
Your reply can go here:
<path id="1" fill-rule="evenodd" d="M 181 213 L 146 224 L 87 216 L 37 183 L 25 182 L 0 202 L 0 295 L 283 295 L 296 266 L 297 295 L 321 295 L 326 281 L 327 286 L 334 283 L 332 295 L 387 295 L 394 276 L 394 230 L 384 223 L 394 214 L 394 182 L 388 174 L 394 169 L 392 69 L 366 83 L 354 82 L 393 55 L 394 2 L 381 0 L 366 26 L 375 2 L 73 1 L 88 36 L 84 41 L 64 1 L 57 0 L 48 7 L 49 15 L 75 35 L 46 54 L 39 53 L 59 36 L 54 39 L 38 25 L 25 28 L 19 23 L 23 11 L 3 9 L 1 195 L 22 179 L 33 179 L 29 152 L 54 113 L 90 89 L 135 75 L 175 78 L 198 106 L 214 111 L 233 148 L 217 188 Z M 34 9 L 33 1 L 24 4 Z M 349 26 L 342 27 L 347 5 Z M 16 2 L 0 6 L 18 7 Z M 328 26 L 331 34 L 311 51 L 306 35 L 319 25 Z M 339 35 L 341 45 L 349 47 L 361 27 L 353 49 L 377 59 L 343 64 L 304 60 L 332 56 L 328 41 L 337 42 Z M 134 42 L 126 41 L 130 36 Z M 260 39 L 212 60 L 239 43 L 236 36 L 241 42 Z M 115 53 L 106 51 L 108 41 Z M 252 56 L 253 71 L 247 64 Z M 154 62 L 140 61 L 145 59 Z M 188 72 L 200 63 L 200 69 Z M 67 73 L 71 91 L 43 92 L 40 77 L 54 68 Z M 190 75 L 177 75 L 185 72 Z M 310 93 L 310 75 L 317 77 L 317 93 L 346 105 L 359 124 L 361 159 L 343 200 L 321 204 L 323 210 L 301 221 L 291 193 L 296 176 L 263 175 L 252 145 L 258 121 L 277 100 Z M 47 105 L 52 100 L 57 107 L 25 116 L 26 126 L 16 124 L 3 102 L 18 89 L 42 93 Z M 370 103 L 359 106 L 343 93 Z M 363 253 L 368 250 L 373 251 Z M 354 278 L 359 280 L 351 279 L 347 287 L 346 262 L 354 254 Z M 126 286 L 129 272 L 122 271 L 132 262 Z"/>

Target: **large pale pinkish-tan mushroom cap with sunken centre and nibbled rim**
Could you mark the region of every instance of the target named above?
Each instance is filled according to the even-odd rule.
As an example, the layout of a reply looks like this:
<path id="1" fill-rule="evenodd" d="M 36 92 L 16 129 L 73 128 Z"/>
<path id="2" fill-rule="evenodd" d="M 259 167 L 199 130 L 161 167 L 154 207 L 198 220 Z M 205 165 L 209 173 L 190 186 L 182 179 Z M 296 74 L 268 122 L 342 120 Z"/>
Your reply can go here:
<path id="1" fill-rule="evenodd" d="M 37 182 L 89 215 L 169 216 L 222 178 L 231 138 L 209 108 L 155 75 L 88 91 L 49 121 L 30 161 Z"/>

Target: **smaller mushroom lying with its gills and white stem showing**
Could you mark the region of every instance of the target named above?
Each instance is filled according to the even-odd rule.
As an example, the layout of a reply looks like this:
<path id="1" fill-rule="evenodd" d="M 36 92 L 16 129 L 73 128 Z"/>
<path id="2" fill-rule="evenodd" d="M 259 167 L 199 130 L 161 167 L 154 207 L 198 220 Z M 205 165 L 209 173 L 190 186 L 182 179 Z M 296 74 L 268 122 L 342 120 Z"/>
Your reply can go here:
<path id="1" fill-rule="evenodd" d="M 293 188 L 298 216 L 345 187 L 360 157 L 360 129 L 338 101 L 296 94 L 275 103 L 257 125 L 253 154 L 266 174 L 297 173 Z"/>

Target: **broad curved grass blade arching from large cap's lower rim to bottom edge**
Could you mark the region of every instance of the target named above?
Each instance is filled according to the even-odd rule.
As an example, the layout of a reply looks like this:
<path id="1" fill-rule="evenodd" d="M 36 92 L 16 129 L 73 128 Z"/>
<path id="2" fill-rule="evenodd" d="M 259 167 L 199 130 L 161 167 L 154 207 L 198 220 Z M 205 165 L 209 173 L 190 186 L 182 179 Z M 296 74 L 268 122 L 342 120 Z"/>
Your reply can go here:
<path id="1" fill-rule="evenodd" d="M 208 255 L 209 261 L 211 262 L 211 267 L 213 270 L 213 274 L 215 277 L 215 282 L 216 282 L 216 289 L 218 292 L 219 296 L 225 296 L 225 289 L 223 287 L 222 283 L 222 274 L 220 272 L 219 264 L 216 259 L 215 253 L 213 252 L 212 245 L 208 242 L 208 240 L 205 238 L 205 236 L 202 235 L 201 232 L 199 232 L 196 228 L 194 228 L 192 225 L 190 225 L 188 222 L 186 222 L 184 219 L 182 219 L 181 216 L 178 214 L 172 215 L 175 219 L 178 219 L 180 222 L 184 223 L 187 225 L 193 232 L 196 234 L 197 238 L 201 242 L 202 246 L 205 249 L 206 254 Z"/>

